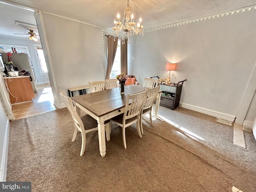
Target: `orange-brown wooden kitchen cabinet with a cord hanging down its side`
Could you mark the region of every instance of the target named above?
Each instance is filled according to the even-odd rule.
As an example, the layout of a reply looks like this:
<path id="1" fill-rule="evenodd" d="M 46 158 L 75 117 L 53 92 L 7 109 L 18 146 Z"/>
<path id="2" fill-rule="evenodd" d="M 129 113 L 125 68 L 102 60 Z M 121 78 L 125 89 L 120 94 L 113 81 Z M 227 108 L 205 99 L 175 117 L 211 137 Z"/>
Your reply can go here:
<path id="1" fill-rule="evenodd" d="M 10 96 L 11 104 L 31 102 L 35 97 L 30 76 L 6 77 L 6 88 Z"/>

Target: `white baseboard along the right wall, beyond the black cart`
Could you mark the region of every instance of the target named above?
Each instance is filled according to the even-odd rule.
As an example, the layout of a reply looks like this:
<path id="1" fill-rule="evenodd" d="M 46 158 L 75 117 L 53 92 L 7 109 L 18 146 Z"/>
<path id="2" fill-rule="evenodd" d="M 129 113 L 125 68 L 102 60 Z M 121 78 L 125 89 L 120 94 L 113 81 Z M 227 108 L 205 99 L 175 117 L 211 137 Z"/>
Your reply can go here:
<path id="1" fill-rule="evenodd" d="M 222 112 L 218 112 L 218 111 L 214 111 L 214 110 L 210 110 L 210 109 L 206 109 L 206 108 L 202 108 L 202 107 L 198 107 L 198 106 L 194 106 L 194 105 L 190 105 L 182 102 L 180 102 L 180 104 L 182 105 L 183 108 L 197 111 L 206 115 L 214 116 L 227 121 L 234 122 L 236 118 L 235 116 L 232 116 L 230 114 L 225 114 Z"/>

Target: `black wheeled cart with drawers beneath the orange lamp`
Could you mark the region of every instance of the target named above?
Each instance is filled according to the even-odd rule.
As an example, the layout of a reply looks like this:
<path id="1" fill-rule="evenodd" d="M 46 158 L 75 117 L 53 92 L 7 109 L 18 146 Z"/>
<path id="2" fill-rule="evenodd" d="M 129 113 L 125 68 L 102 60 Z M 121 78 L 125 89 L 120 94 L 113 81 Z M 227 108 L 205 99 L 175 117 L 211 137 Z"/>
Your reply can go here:
<path id="1" fill-rule="evenodd" d="M 161 87 L 168 86 L 162 89 L 160 87 L 160 89 L 163 90 L 160 98 L 160 105 L 170 107 L 172 110 L 174 110 L 174 108 L 177 108 L 180 104 L 180 95 L 182 90 L 182 84 L 184 81 L 186 80 L 180 81 L 178 82 L 178 84 L 170 84 L 170 85 L 159 83 Z"/>

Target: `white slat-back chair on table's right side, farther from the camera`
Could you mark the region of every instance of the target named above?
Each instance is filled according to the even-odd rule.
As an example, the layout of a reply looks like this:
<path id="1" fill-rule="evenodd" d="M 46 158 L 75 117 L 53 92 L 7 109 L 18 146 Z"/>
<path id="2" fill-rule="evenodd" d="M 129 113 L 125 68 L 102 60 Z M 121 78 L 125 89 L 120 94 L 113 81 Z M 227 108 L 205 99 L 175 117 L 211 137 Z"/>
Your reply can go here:
<path id="1" fill-rule="evenodd" d="M 146 101 L 145 101 L 145 103 L 142 107 L 141 113 L 140 113 L 140 129 L 141 129 L 142 134 L 143 134 L 142 118 L 146 114 L 149 114 L 150 124 L 151 124 L 151 126 L 154 126 L 153 121 L 152 121 L 152 110 L 153 110 L 154 101 L 156 100 L 156 96 L 159 92 L 159 88 L 160 88 L 160 86 L 157 86 L 157 87 L 147 90 L 147 98 L 146 98 Z"/>

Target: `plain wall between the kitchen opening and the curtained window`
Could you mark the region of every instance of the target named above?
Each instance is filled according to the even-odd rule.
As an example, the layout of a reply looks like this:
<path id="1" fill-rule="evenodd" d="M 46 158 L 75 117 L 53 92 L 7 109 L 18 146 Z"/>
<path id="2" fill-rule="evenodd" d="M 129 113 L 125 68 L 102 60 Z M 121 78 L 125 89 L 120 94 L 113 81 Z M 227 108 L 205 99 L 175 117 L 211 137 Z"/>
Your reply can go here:
<path id="1" fill-rule="evenodd" d="M 55 85 L 52 82 L 51 85 L 54 86 L 54 100 L 58 107 L 60 89 L 68 94 L 68 88 L 105 80 L 102 29 L 46 13 L 42 13 L 41 20 L 47 39 L 42 46 L 49 51 L 50 61 L 47 64 L 52 66 L 50 81 L 55 81 Z"/>

